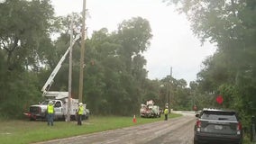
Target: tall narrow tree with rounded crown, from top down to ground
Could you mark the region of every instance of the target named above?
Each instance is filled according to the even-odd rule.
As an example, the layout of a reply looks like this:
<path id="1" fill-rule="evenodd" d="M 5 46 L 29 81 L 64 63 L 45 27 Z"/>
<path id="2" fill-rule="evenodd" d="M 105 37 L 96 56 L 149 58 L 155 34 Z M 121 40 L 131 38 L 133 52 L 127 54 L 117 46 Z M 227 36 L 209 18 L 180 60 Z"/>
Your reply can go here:
<path id="1" fill-rule="evenodd" d="M 123 91 L 120 96 L 123 98 L 124 113 L 136 112 L 140 105 L 142 95 L 142 82 L 146 78 L 146 70 L 143 66 L 145 59 L 141 56 L 150 45 L 151 27 L 147 20 L 141 17 L 123 21 L 114 34 L 114 41 L 121 47 L 117 49 L 117 56 L 123 61 L 121 83 Z M 118 108 L 118 107 L 115 107 Z"/>

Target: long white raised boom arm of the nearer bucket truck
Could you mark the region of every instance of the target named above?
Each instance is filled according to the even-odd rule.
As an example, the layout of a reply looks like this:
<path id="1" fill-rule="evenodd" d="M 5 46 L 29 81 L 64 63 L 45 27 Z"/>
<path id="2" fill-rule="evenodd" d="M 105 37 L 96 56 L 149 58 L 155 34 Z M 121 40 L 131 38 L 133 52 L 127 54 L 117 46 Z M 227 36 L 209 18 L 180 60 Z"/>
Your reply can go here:
<path id="1" fill-rule="evenodd" d="M 56 76 L 56 74 L 59 72 L 59 68 L 62 66 L 63 61 L 65 60 L 65 58 L 67 57 L 70 49 L 73 47 L 73 45 L 75 44 L 75 42 L 80 38 L 80 35 L 78 35 L 76 37 L 76 39 L 74 39 L 72 41 L 72 43 L 70 43 L 69 48 L 66 50 L 66 52 L 64 53 L 64 55 L 60 58 L 59 63 L 57 64 L 57 66 L 53 69 L 53 71 L 51 72 L 49 78 L 47 79 L 46 83 L 42 86 L 41 88 L 41 92 L 42 95 L 44 95 L 47 90 L 50 88 L 50 85 L 53 83 L 53 79 Z"/>

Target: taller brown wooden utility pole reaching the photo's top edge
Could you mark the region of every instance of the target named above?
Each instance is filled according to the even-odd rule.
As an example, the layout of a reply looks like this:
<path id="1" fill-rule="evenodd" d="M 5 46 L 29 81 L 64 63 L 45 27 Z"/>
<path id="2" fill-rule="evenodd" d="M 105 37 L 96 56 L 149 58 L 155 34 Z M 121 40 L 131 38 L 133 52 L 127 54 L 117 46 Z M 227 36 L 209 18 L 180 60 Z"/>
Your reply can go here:
<path id="1" fill-rule="evenodd" d="M 80 75 L 79 75 L 79 94 L 78 99 L 79 103 L 82 103 L 83 97 L 83 80 L 84 80 L 84 59 L 85 59 L 85 41 L 86 41 L 86 4 L 87 1 L 83 0 L 83 12 L 82 12 L 82 40 L 81 40 L 81 53 L 80 53 Z"/>

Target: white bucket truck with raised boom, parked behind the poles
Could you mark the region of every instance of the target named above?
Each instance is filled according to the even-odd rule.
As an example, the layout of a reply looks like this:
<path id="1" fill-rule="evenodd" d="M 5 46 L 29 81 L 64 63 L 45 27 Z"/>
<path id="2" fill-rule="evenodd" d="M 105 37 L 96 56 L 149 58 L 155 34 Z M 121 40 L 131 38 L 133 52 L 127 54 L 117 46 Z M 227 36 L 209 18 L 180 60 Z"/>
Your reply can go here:
<path id="1" fill-rule="evenodd" d="M 67 57 L 70 49 L 74 45 L 75 41 L 79 39 L 79 36 L 70 43 L 69 48 L 66 50 L 65 54 L 60 58 L 59 63 L 51 72 L 49 78 L 46 83 L 42 86 L 41 92 L 42 96 L 46 99 L 44 102 L 39 104 L 31 105 L 29 108 L 29 112 L 25 112 L 30 120 L 37 119 L 46 119 L 46 109 L 47 105 L 50 101 L 54 104 L 54 119 L 68 120 L 68 115 L 70 116 L 70 120 L 75 120 L 78 112 L 78 99 L 70 98 L 70 107 L 68 106 L 69 100 L 69 92 L 59 92 L 59 91 L 48 91 L 50 89 L 50 85 L 53 83 L 54 77 L 59 72 L 59 68 L 62 66 L 63 61 Z M 69 113 L 68 113 L 68 110 Z M 89 110 L 86 108 L 86 104 L 84 104 L 84 114 L 82 119 L 87 119 L 89 114 Z"/>

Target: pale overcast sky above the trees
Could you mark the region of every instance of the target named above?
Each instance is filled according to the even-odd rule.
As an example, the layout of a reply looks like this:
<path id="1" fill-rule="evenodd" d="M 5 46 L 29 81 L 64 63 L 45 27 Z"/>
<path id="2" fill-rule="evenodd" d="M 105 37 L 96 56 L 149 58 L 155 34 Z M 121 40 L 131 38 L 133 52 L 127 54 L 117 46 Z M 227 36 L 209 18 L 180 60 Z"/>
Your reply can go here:
<path id="1" fill-rule="evenodd" d="M 80 13 L 83 0 L 51 0 L 57 15 Z M 200 41 L 190 30 L 186 16 L 178 14 L 173 6 L 162 0 L 87 0 L 88 35 L 107 28 L 116 31 L 118 23 L 141 16 L 151 24 L 151 47 L 143 55 L 150 79 L 170 75 L 184 78 L 189 84 L 196 80 L 202 61 L 215 52 L 215 46 Z"/>

